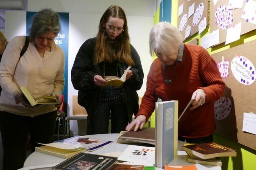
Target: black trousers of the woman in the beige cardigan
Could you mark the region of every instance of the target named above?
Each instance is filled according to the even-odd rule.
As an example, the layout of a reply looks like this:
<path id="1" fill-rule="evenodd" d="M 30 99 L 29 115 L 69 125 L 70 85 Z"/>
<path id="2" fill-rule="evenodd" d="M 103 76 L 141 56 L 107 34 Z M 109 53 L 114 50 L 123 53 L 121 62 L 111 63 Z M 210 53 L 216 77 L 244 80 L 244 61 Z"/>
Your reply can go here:
<path id="1" fill-rule="evenodd" d="M 57 111 L 36 117 L 0 111 L 0 131 L 4 149 L 3 170 L 17 170 L 26 160 L 26 139 L 30 133 L 31 151 L 36 143 L 52 143 Z"/>

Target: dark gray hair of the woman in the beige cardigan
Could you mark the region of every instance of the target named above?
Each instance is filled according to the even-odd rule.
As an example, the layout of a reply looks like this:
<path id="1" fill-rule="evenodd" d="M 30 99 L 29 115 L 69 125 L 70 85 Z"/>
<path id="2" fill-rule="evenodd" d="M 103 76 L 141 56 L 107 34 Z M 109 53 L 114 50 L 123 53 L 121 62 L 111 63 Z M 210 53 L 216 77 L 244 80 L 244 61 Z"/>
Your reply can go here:
<path id="1" fill-rule="evenodd" d="M 50 8 L 40 10 L 33 18 L 30 28 L 30 41 L 35 41 L 38 35 L 53 31 L 55 35 L 60 32 L 60 19 L 56 12 Z"/>

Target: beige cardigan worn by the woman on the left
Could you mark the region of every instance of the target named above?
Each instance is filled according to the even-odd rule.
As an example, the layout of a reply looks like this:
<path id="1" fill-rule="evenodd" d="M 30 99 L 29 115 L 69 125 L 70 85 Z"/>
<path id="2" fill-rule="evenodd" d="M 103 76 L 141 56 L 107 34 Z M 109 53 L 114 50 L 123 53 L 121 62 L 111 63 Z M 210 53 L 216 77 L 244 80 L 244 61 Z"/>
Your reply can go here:
<path id="1" fill-rule="evenodd" d="M 41 58 L 34 43 L 29 43 L 26 53 L 20 58 L 25 36 L 14 37 L 7 45 L 0 63 L 0 111 L 34 117 L 56 110 L 54 105 L 36 108 L 15 103 L 20 93 L 19 86 L 26 86 L 35 99 L 51 95 L 61 95 L 64 88 L 64 51 L 53 42 L 51 51 Z M 18 63 L 18 64 L 17 64 Z"/>

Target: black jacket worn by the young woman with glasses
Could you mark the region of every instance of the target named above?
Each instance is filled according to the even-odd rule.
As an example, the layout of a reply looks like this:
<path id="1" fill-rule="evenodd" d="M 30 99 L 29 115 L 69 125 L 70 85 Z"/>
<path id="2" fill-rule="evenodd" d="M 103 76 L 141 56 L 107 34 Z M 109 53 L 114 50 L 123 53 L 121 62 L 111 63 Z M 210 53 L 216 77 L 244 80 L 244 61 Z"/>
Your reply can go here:
<path id="1" fill-rule="evenodd" d="M 86 40 L 80 47 L 76 59 L 71 70 L 71 81 L 76 90 L 78 90 L 78 104 L 85 107 L 90 119 L 97 114 L 97 108 L 100 100 L 101 87 L 94 84 L 93 78 L 96 74 L 105 76 L 104 62 L 94 64 L 94 47 L 96 38 Z M 132 66 L 132 77 L 123 84 L 126 107 L 128 111 L 129 121 L 132 121 L 132 113 L 136 115 L 138 112 L 138 94 L 136 90 L 140 90 L 144 73 L 141 66 L 140 56 L 132 45 L 131 57 L 135 63 Z M 120 63 L 120 73 L 128 66 Z"/>

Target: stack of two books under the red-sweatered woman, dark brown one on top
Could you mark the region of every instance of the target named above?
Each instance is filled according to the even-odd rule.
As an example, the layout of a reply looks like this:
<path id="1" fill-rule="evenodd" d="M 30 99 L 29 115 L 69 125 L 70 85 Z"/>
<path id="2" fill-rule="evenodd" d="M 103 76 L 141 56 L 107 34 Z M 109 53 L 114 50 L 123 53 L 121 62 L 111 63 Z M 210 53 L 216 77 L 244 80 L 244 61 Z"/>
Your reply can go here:
<path id="1" fill-rule="evenodd" d="M 236 156 L 236 150 L 214 142 L 184 145 L 181 149 L 187 152 L 188 162 L 212 166 L 222 166 L 222 156 Z"/>

